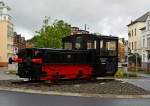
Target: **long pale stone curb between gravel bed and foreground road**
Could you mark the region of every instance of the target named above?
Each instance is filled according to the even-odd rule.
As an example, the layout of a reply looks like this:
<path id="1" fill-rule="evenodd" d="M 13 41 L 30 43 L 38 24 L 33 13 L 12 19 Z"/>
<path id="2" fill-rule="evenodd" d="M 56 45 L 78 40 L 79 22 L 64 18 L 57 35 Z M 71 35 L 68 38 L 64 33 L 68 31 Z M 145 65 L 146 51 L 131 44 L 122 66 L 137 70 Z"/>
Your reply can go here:
<path id="1" fill-rule="evenodd" d="M 0 91 L 12 91 L 20 93 L 43 94 L 54 96 L 96 97 L 96 98 L 113 98 L 113 99 L 137 99 L 137 98 L 150 99 L 150 95 L 88 94 L 88 93 L 70 93 L 58 91 L 40 91 L 40 90 L 19 89 L 19 88 L 1 88 L 1 87 Z"/>

